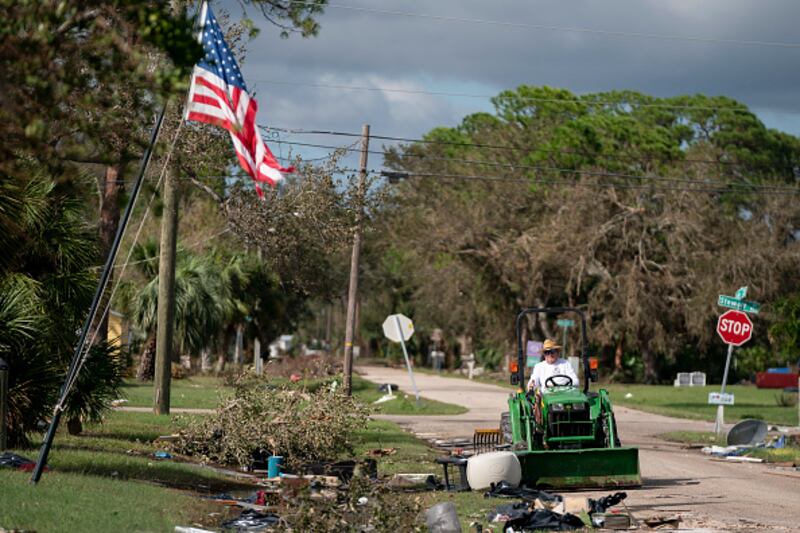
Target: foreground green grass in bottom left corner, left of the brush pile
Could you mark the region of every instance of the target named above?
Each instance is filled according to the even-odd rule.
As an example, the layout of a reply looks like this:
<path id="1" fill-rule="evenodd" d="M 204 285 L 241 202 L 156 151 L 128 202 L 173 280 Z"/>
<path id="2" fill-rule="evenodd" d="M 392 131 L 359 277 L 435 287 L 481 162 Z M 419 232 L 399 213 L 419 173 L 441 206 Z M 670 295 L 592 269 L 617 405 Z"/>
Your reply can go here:
<path id="1" fill-rule="evenodd" d="M 198 498 L 249 487 L 193 463 L 159 461 L 152 440 L 174 421 L 149 413 L 112 412 L 79 437 L 60 432 L 41 481 L 0 470 L 0 529 L 36 531 L 172 531 L 176 525 L 219 524 L 217 504 Z M 38 449 L 16 450 L 35 459 Z M 185 489 L 185 490 L 179 490 Z"/>

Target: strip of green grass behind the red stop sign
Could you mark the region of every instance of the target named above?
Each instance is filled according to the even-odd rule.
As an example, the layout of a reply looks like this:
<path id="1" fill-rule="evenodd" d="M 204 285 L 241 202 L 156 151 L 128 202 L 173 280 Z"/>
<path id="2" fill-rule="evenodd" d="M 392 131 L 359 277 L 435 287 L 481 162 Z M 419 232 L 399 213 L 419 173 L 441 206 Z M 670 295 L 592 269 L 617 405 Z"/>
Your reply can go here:
<path id="1" fill-rule="evenodd" d="M 601 385 L 611 393 L 614 405 L 622 405 L 680 418 L 713 421 L 716 405 L 708 405 L 708 393 L 719 392 L 719 386 L 673 387 L 670 385 Z M 735 405 L 725 406 L 725 421 L 737 422 L 746 418 L 764 420 L 773 424 L 794 426 L 797 421 L 797 407 L 782 407 L 775 401 L 779 394 L 771 389 L 758 389 L 752 386 L 733 385 L 727 392 L 736 397 Z M 626 394 L 631 398 L 625 398 Z"/>

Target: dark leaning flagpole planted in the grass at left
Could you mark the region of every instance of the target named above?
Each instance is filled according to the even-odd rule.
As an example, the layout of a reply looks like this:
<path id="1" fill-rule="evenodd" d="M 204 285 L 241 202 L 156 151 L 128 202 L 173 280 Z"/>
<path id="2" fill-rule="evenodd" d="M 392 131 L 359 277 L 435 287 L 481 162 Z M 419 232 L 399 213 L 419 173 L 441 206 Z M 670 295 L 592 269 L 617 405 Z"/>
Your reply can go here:
<path id="1" fill-rule="evenodd" d="M 125 234 L 125 228 L 128 226 L 128 222 L 130 221 L 131 213 L 133 212 L 133 206 L 136 204 L 136 198 L 139 196 L 139 191 L 142 188 L 144 174 L 147 170 L 147 165 L 150 163 L 150 158 L 153 155 L 153 147 L 158 139 L 158 132 L 161 130 L 161 125 L 164 122 L 164 114 L 166 110 L 167 104 L 165 102 L 161 108 L 161 112 L 158 115 L 156 124 L 153 127 L 153 132 L 150 136 L 150 143 L 142 154 L 142 159 L 139 163 L 139 174 L 136 177 L 136 182 L 134 183 L 133 190 L 131 191 L 131 199 L 128 202 L 128 206 L 125 208 L 125 213 L 123 214 L 122 220 L 117 228 L 117 234 L 114 236 L 114 242 L 111 244 L 111 250 L 108 252 L 106 264 L 103 267 L 103 273 L 100 276 L 100 282 L 97 284 L 97 290 L 94 293 L 94 299 L 92 300 L 92 305 L 89 308 L 89 315 L 86 317 L 86 322 L 83 324 L 81 336 L 78 339 L 78 344 L 75 346 L 75 353 L 72 356 L 72 361 L 70 361 L 69 369 L 67 370 L 66 379 L 64 380 L 64 384 L 61 386 L 60 397 L 55 409 L 53 410 L 53 419 L 50 421 L 50 427 L 47 430 L 47 435 L 45 436 L 44 441 L 42 442 L 42 447 L 39 450 L 39 459 L 36 461 L 36 467 L 34 468 L 33 475 L 31 476 L 31 483 L 33 484 L 38 483 L 39 479 L 42 477 L 44 466 L 47 463 L 47 456 L 49 455 L 50 448 L 53 445 L 53 438 L 55 437 L 56 430 L 58 429 L 58 423 L 61 420 L 61 414 L 64 412 L 64 402 L 66 401 L 67 395 L 69 395 L 71 388 L 69 384 L 72 381 L 74 374 L 78 371 L 80 359 L 83 355 L 83 347 L 86 344 L 86 336 L 88 335 L 89 328 L 91 328 L 95 316 L 97 315 L 97 308 L 100 305 L 100 299 L 105 291 L 106 285 L 108 284 L 108 280 L 111 277 L 114 261 L 117 258 L 119 246 L 122 242 L 122 236 Z"/>

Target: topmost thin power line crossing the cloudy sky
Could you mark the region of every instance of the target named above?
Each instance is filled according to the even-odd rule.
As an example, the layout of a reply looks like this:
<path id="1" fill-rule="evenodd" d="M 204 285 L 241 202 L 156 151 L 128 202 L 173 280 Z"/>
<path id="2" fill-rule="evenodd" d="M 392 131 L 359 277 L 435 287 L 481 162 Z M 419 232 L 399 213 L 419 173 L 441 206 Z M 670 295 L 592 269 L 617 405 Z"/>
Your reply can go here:
<path id="1" fill-rule="evenodd" d="M 554 26 L 554 25 L 546 25 L 546 24 L 530 24 L 527 22 L 513 22 L 513 21 L 503 21 L 503 20 L 489 20 L 489 19 L 475 19 L 475 18 L 467 18 L 467 17 L 453 17 L 453 16 L 446 16 L 446 15 L 432 15 L 428 13 L 410 13 L 406 11 L 393 11 L 388 9 L 377 9 L 372 7 L 362 7 L 362 6 L 346 6 L 341 4 L 321 4 L 317 2 L 306 2 L 302 0 L 290 0 L 289 3 L 291 4 L 298 4 L 298 5 L 305 5 L 305 6 L 320 6 L 320 7 L 332 7 L 334 9 L 341 9 L 341 10 L 348 10 L 348 11 L 358 11 L 363 13 L 373 13 L 379 15 L 392 15 L 392 16 L 399 16 L 399 17 L 407 17 L 407 18 L 418 18 L 418 19 L 429 19 L 429 20 L 437 20 L 441 22 L 461 22 L 461 23 L 468 23 L 468 24 L 486 24 L 486 25 L 493 25 L 493 26 L 505 26 L 505 27 L 514 27 L 514 28 L 524 28 L 524 29 L 531 29 L 531 30 L 545 30 L 545 31 L 559 31 L 559 32 L 570 32 L 570 33 L 588 33 L 588 34 L 595 34 L 595 35 L 607 35 L 611 37 L 635 37 L 635 38 L 643 38 L 643 39 L 661 39 L 661 40 L 669 40 L 669 41 L 689 41 L 689 42 L 699 42 L 699 43 L 706 43 L 706 44 L 734 44 L 739 46 L 765 46 L 765 47 L 776 47 L 776 48 L 791 48 L 797 49 L 800 48 L 800 43 L 788 43 L 788 42 L 781 42 L 781 41 L 761 41 L 761 40 L 745 40 L 745 39 L 719 39 L 716 37 L 703 37 L 703 36 L 695 36 L 695 35 L 670 35 L 670 34 L 663 34 L 663 33 L 648 33 L 648 32 L 638 32 L 638 31 L 615 31 L 615 30 L 601 30 L 595 28 L 581 28 L 577 26 Z"/>

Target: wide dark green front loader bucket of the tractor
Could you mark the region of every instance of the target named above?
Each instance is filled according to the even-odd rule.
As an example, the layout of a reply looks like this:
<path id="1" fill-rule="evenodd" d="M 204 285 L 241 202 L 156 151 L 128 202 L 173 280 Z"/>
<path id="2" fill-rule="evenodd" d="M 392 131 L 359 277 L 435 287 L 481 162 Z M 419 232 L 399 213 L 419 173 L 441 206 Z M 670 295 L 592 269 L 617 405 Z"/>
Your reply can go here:
<path id="1" fill-rule="evenodd" d="M 638 487 L 637 448 L 586 448 L 516 452 L 522 483 L 540 488 Z"/>

